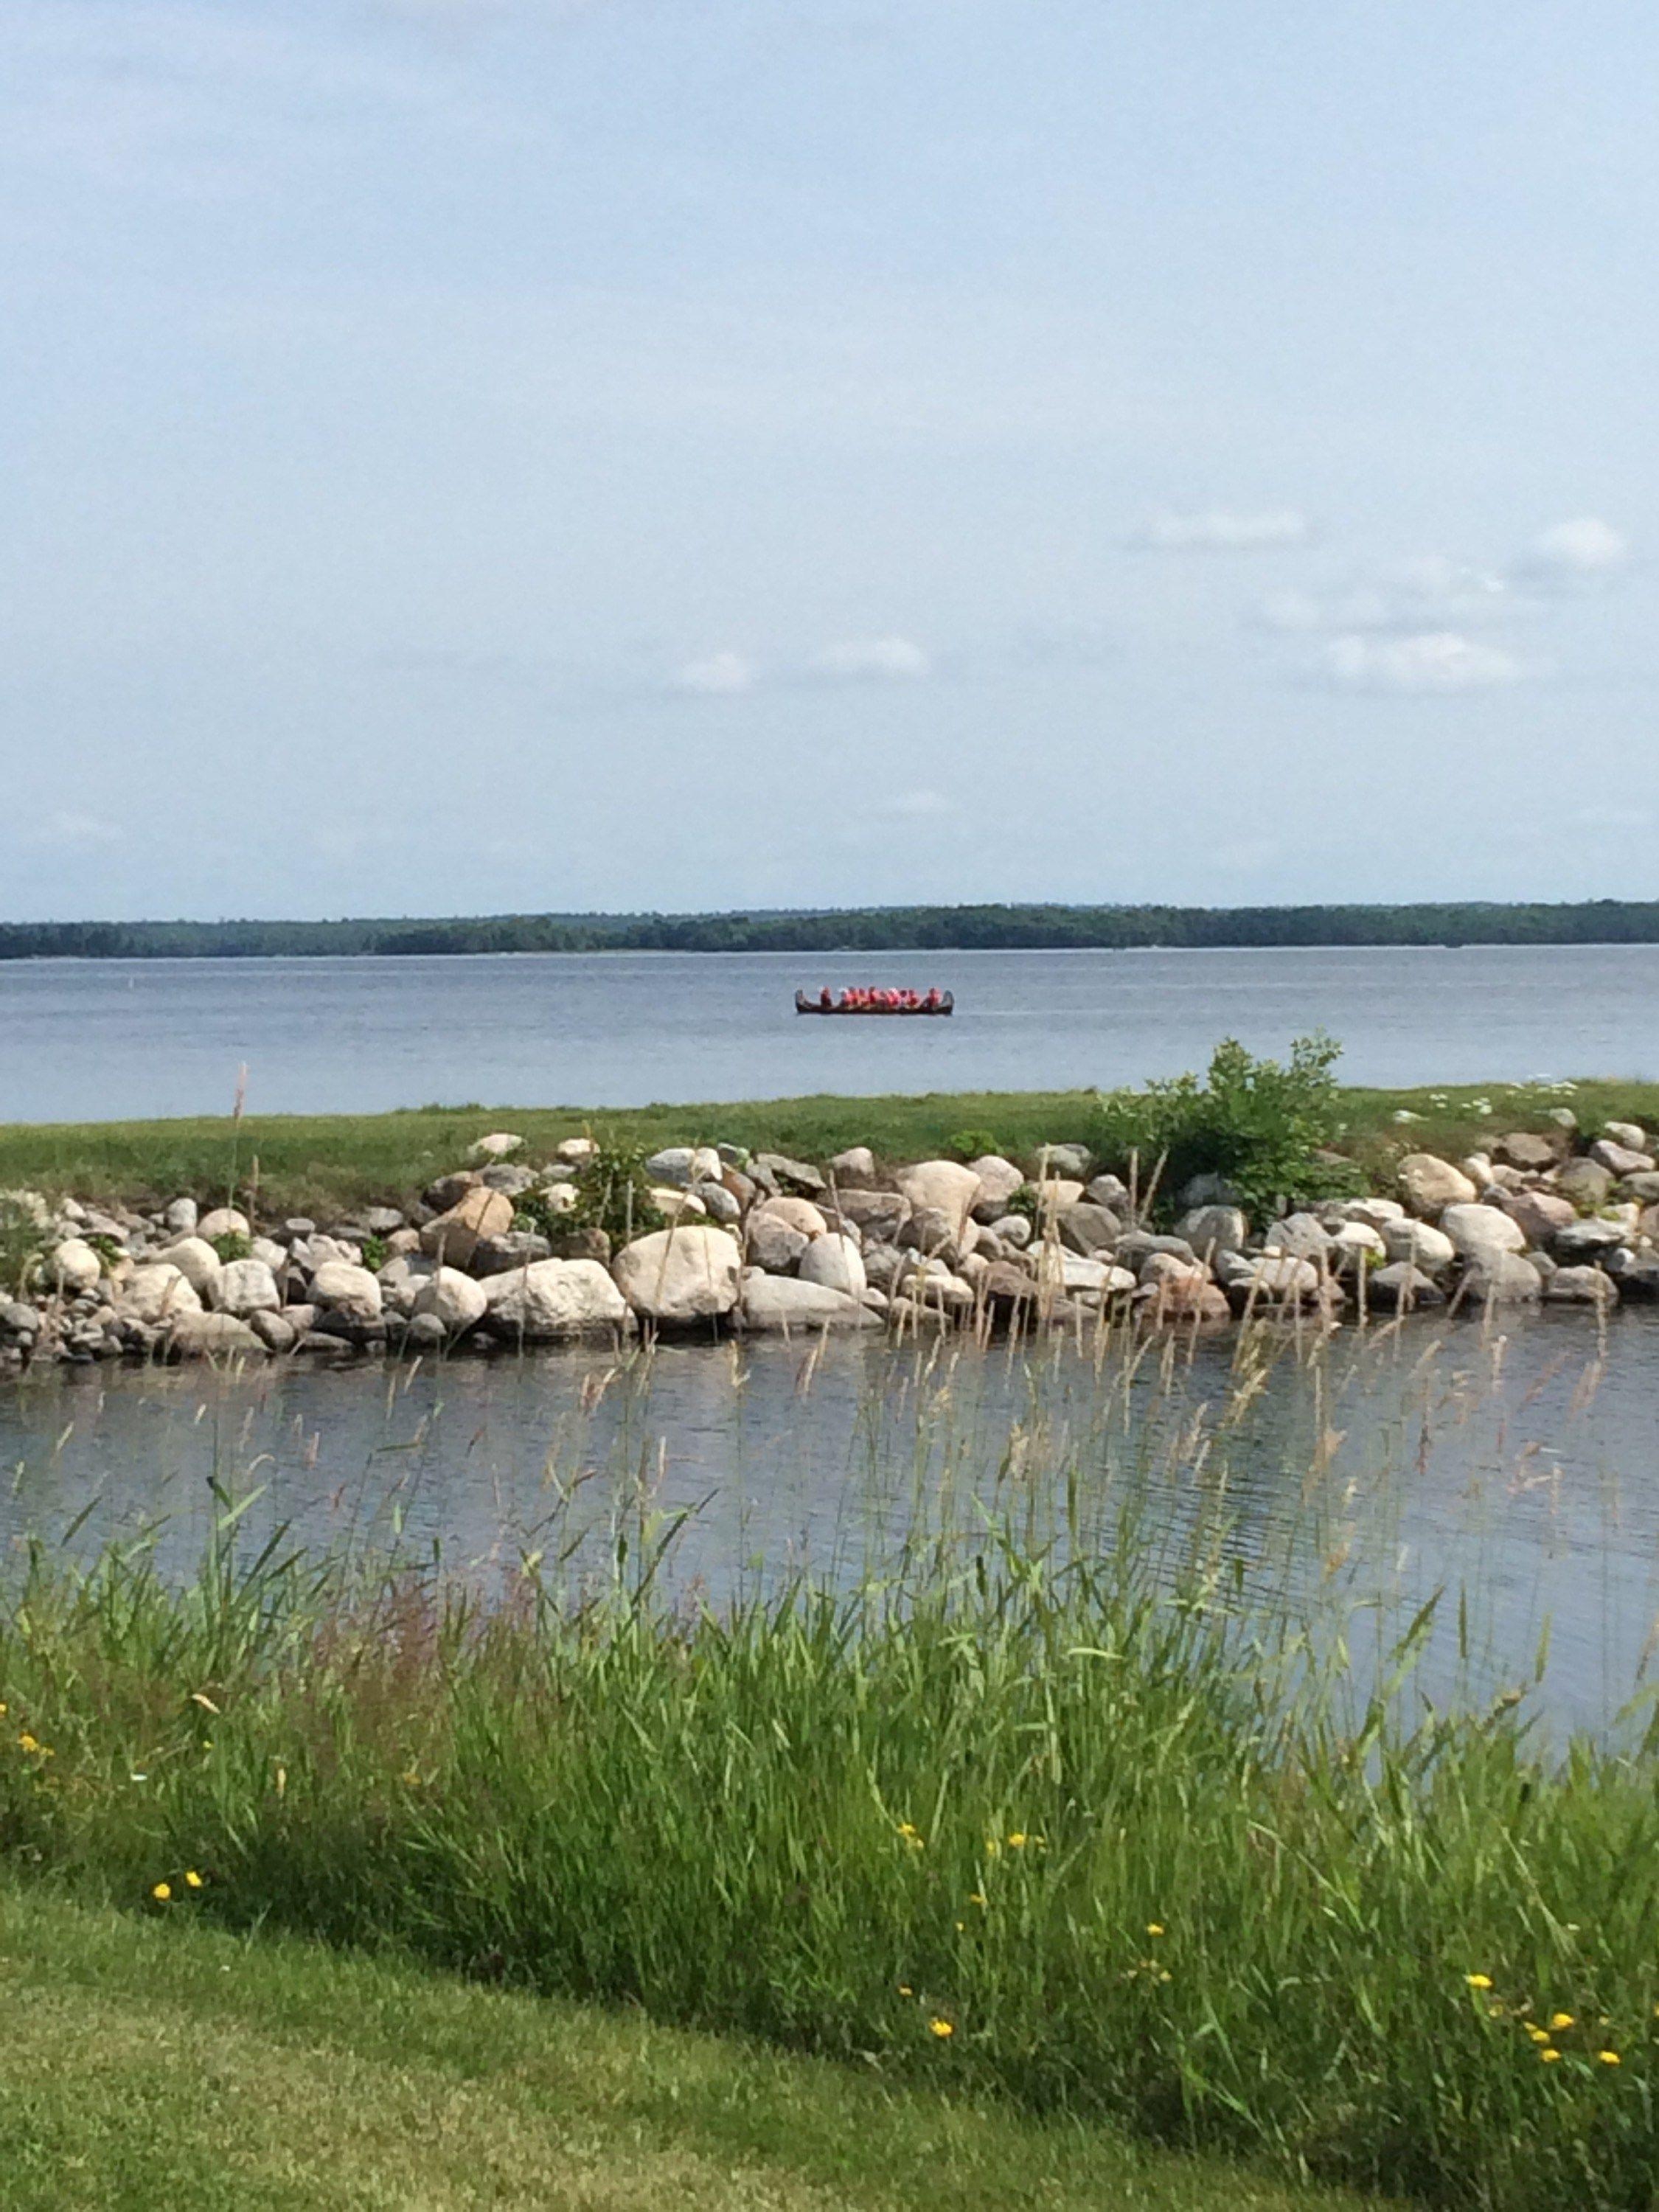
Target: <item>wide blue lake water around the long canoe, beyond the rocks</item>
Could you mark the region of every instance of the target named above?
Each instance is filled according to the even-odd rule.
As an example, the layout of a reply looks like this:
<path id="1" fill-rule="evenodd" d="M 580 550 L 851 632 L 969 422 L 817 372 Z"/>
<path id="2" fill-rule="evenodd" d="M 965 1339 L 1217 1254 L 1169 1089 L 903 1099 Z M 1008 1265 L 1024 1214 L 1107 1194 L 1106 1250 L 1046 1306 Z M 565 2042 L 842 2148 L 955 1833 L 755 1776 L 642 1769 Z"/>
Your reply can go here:
<path id="1" fill-rule="evenodd" d="M 949 1022 L 794 987 L 938 982 Z M 1139 1084 L 1323 1026 L 1356 1084 L 1659 1075 L 1659 947 L 0 962 L 0 1121 Z"/>

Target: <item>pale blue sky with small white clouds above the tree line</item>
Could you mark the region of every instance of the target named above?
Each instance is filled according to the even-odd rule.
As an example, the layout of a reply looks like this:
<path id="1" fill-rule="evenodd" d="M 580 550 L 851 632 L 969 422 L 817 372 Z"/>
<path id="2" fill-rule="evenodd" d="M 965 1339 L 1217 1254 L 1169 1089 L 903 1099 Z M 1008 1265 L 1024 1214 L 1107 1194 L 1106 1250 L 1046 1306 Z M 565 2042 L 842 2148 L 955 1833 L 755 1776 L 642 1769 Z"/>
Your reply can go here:
<path id="1" fill-rule="evenodd" d="M 1659 896 L 1650 0 L 7 0 L 0 918 Z"/>

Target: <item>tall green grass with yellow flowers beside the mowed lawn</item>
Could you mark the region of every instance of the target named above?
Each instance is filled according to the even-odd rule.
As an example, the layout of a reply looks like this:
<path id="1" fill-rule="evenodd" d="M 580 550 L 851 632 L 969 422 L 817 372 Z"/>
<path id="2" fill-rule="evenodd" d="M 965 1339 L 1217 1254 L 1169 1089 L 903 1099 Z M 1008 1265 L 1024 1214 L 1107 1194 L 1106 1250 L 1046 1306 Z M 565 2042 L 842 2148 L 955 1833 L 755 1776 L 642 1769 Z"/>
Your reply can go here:
<path id="1" fill-rule="evenodd" d="M 396 1944 L 1287 2177 L 1652 2201 L 1648 1754 L 1352 1712 L 1133 1524 L 1066 1573 L 984 1537 L 721 1615 L 653 1599 L 659 1535 L 630 1588 L 489 1610 L 38 1559 L 7 1854 L 159 1929 Z"/>

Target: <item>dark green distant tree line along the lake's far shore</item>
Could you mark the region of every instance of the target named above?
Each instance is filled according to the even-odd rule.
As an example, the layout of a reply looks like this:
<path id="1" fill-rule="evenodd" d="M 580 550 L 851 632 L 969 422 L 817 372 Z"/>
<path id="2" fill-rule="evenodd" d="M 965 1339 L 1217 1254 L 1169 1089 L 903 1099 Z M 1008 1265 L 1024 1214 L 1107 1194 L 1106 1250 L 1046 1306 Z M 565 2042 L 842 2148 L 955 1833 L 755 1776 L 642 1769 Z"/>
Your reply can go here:
<path id="1" fill-rule="evenodd" d="M 1659 900 L 1413 907 L 849 907 L 354 922 L 0 922 L 0 960 L 341 953 L 854 953 L 1223 945 L 1659 945 Z"/>

